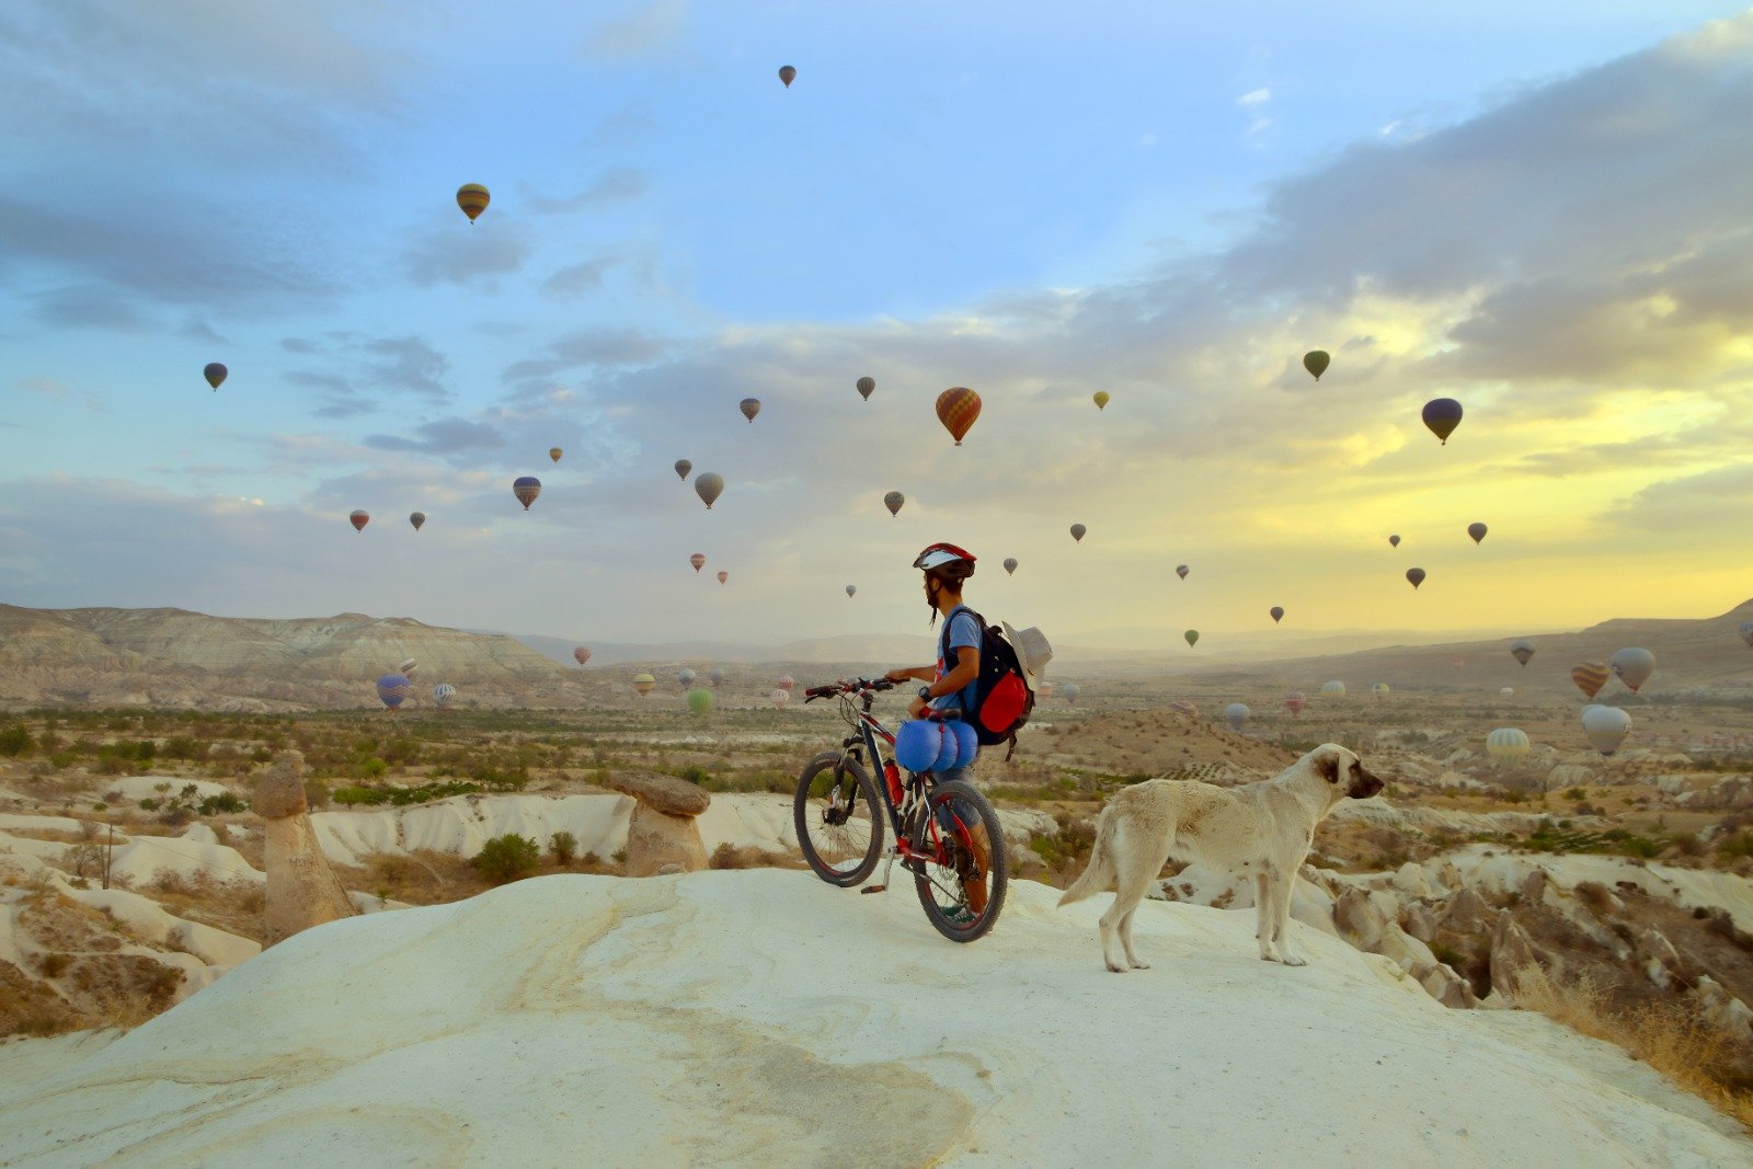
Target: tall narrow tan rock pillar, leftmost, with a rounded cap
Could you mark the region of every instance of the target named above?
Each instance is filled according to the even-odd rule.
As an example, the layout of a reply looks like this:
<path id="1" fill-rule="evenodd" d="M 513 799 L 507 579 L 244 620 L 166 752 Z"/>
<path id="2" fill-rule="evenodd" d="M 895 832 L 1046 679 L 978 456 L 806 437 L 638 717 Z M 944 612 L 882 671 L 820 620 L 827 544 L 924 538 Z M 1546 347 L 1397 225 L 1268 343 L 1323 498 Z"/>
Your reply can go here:
<path id="1" fill-rule="evenodd" d="M 266 820 L 263 868 L 268 894 L 263 906 L 261 945 L 291 938 L 302 929 L 358 913 L 347 890 L 328 866 L 305 806 L 305 757 L 282 752 L 256 785 L 254 811 Z"/>

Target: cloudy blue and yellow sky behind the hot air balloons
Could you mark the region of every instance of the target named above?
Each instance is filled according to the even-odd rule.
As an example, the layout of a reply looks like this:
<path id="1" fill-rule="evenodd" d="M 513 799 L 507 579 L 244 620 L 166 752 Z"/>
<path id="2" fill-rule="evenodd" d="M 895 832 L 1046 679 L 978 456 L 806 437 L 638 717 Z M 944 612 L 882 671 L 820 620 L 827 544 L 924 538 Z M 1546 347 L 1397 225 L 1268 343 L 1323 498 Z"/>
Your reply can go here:
<path id="1" fill-rule="evenodd" d="M 1090 645 L 1714 615 L 1748 126 L 1706 0 L 23 0 L 0 601 L 784 641 L 950 540 Z"/>

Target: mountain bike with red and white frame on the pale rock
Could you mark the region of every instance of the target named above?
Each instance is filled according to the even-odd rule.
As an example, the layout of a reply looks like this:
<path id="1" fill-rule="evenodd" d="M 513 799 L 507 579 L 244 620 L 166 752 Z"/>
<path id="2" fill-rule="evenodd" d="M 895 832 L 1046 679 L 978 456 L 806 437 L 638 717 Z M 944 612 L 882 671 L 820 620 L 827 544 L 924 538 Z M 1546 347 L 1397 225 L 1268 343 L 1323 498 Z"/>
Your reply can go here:
<path id="1" fill-rule="evenodd" d="M 806 703 L 838 698 L 852 729 L 840 750 L 813 757 L 798 776 L 792 815 L 803 859 L 829 885 L 861 883 L 887 857 L 913 875 L 919 904 L 931 925 L 950 941 L 983 938 L 1004 908 L 1010 864 L 997 811 L 964 780 L 940 780 L 931 771 L 906 771 L 884 755 L 894 733 L 871 715 L 871 701 L 894 689 L 884 678 L 857 678 L 805 691 Z M 927 719 L 959 719 L 959 710 L 933 710 Z M 873 776 L 882 776 L 878 782 Z M 885 836 L 894 845 L 884 848 Z"/>

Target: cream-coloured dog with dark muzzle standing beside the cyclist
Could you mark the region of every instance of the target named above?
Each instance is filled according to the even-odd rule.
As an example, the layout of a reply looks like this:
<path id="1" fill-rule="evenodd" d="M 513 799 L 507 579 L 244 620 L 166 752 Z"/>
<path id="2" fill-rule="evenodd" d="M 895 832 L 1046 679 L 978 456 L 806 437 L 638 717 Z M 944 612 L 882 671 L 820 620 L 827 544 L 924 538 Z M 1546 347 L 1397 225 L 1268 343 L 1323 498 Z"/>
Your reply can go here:
<path id="1" fill-rule="evenodd" d="M 1213 787 L 1194 780 L 1146 780 L 1108 801 L 1096 824 L 1090 864 L 1059 904 L 1115 890 L 1101 915 L 1101 953 L 1120 974 L 1143 969 L 1132 952 L 1132 913 L 1169 854 L 1253 873 L 1260 959 L 1302 966 L 1290 950 L 1290 890 L 1315 843 L 1315 825 L 1341 799 L 1367 799 L 1381 780 L 1338 743 L 1322 743 L 1269 780 Z M 1115 948 L 1118 936 L 1125 962 Z"/>

